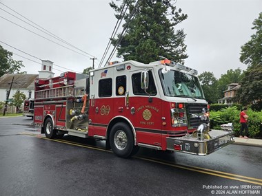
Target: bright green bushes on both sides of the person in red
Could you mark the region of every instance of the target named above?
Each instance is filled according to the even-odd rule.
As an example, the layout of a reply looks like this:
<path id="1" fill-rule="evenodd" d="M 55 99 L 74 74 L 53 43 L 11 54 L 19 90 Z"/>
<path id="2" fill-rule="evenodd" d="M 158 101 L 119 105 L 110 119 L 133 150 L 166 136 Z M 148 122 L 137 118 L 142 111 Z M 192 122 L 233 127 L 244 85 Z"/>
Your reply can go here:
<path id="1" fill-rule="evenodd" d="M 210 111 L 210 128 L 221 129 L 220 125 L 232 122 L 234 125 L 234 133 L 239 136 L 241 124 L 239 122 L 239 109 L 236 106 L 221 109 L 220 111 Z M 248 109 L 248 135 L 250 138 L 261 138 L 262 135 L 262 112 L 252 111 Z"/>

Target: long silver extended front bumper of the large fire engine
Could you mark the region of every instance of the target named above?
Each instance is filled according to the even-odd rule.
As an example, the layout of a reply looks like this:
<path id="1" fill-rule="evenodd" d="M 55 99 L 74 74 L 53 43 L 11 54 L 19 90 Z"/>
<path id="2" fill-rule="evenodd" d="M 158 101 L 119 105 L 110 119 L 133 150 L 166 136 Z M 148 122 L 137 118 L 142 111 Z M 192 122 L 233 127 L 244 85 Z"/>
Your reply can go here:
<path id="1" fill-rule="evenodd" d="M 228 144 L 234 143 L 234 131 L 212 130 L 208 132 L 210 139 L 199 140 L 192 135 L 179 138 L 166 138 L 167 150 L 208 155 Z"/>

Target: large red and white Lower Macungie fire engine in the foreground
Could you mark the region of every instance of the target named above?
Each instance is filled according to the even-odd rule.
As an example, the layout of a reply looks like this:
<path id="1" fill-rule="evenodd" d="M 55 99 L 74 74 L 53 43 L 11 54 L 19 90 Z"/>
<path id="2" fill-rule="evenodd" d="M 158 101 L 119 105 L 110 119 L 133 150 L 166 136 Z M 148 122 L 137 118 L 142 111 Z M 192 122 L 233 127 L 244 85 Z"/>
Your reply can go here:
<path id="1" fill-rule="evenodd" d="M 139 146 L 207 155 L 234 142 L 232 124 L 209 129 L 197 71 L 168 61 L 125 61 L 35 80 L 34 124 L 47 138 L 106 141 L 119 157 Z"/>

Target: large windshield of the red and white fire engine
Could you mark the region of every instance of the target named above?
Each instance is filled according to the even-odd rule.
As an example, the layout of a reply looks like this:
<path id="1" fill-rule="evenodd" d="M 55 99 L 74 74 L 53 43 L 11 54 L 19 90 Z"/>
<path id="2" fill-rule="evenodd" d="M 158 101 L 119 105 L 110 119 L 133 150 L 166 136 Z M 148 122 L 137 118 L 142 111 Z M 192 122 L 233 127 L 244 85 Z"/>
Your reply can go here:
<path id="1" fill-rule="evenodd" d="M 196 76 L 174 70 L 162 74 L 161 69 L 159 69 L 159 76 L 165 96 L 205 98 Z"/>

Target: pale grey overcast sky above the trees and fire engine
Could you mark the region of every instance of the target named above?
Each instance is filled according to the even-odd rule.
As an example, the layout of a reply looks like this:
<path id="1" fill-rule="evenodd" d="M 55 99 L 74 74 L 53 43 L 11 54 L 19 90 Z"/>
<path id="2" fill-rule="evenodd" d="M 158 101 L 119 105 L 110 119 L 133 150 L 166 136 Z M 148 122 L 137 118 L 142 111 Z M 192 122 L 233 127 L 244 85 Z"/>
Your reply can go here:
<path id="1" fill-rule="evenodd" d="M 22 71 L 28 74 L 38 74 L 41 70 L 39 59 L 54 62 L 55 76 L 68 70 L 83 72 L 92 67 L 90 58 L 93 56 L 97 58 L 97 67 L 117 23 L 109 2 L 0 0 L 0 45 L 14 53 L 14 60 L 23 61 Z M 177 0 L 175 5 L 188 14 L 188 19 L 177 26 L 187 34 L 185 44 L 189 57 L 185 59 L 185 65 L 197 69 L 199 74 L 213 72 L 218 79 L 229 69 L 246 69 L 247 66 L 239 61 L 241 45 L 250 41 L 254 34 L 252 23 L 262 12 L 262 0 Z M 27 20 L 6 6 L 85 53 L 23 23 L 19 19 Z M 112 49 L 110 47 L 108 55 Z M 112 58 L 112 61 L 122 60 Z"/>

